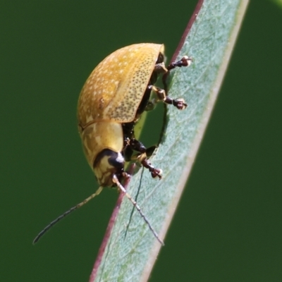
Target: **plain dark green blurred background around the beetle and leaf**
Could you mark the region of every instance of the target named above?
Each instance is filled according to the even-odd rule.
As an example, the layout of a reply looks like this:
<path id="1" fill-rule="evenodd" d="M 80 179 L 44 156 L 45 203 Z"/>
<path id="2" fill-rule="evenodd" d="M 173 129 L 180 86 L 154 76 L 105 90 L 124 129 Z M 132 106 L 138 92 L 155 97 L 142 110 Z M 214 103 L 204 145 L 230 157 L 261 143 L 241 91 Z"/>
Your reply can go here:
<path id="1" fill-rule="evenodd" d="M 115 191 L 32 245 L 97 188 L 76 128 L 78 94 L 119 47 L 164 42 L 169 58 L 196 3 L 0 4 L 1 281 L 87 281 Z M 282 281 L 281 29 L 275 4 L 251 1 L 151 281 Z M 150 130 L 145 145 L 158 140 Z"/>

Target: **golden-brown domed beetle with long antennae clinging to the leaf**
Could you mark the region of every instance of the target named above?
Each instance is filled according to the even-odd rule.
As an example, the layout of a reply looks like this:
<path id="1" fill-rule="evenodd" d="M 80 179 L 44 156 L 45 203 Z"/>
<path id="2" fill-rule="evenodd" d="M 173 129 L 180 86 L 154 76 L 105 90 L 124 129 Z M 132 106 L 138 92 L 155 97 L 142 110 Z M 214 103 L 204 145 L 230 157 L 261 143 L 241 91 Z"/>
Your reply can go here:
<path id="1" fill-rule="evenodd" d="M 180 61 L 164 65 L 164 44 L 133 44 L 107 56 L 87 78 L 78 99 L 78 131 L 82 147 L 90 167 L 94 171 L 99 188 L 90 197 L 52 221 L 35 238 L 34 243 L 66 215 L 99 195 L 104 187 L 117 187 L 133 203 L 149 229 L 164 245 L 152 228 L 145 214 L 121 184 L 130 177 L 125 172 L 125 161 L 136 159 L 147 168 L 153 178 L 161 178 L 161 169 L 148 159 L 150 148 L 135 139 L 134 127 L 142 113 L 157 102 L 172 104 L 185 109 L 184 99 L 171 99 L 166 91 L 154 86 L 159 74 L 173 68 L 190 66 L 192 58 L 184 56 Z M 157 99 L 151 99 L 151 92 Z M 133 152 L 137 152 L 133 156 Z"/>

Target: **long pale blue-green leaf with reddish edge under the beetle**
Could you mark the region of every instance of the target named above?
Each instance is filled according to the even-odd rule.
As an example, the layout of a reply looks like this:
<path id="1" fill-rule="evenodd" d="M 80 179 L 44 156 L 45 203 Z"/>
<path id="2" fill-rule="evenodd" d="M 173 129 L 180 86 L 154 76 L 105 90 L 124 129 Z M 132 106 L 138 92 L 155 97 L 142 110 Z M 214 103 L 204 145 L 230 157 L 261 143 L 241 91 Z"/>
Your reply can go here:
<path id="1" fill-rule="evenodd" d="M 140 169 L 128 185 L 128 192 L 160 238 L 166 234 L 195 160 L 246 6 L 247 0 L 198 4 L 200 11 L 196 11 L 197 18 L 178 56 L 192 56 L 194 62 L 189 68 L 174 71 L 169 90 L 169 97 L 183 97 L 188 108 L 178 111 L 168 106 L 164 136 L 150 159 L 162 168 L 163 178 L 153 179 L 147 170 Z M 161 244 L 125 197 L 106 243 L 90 281 L 94 281 L 96 271 L 95 281 L 147 281 Z"/>

